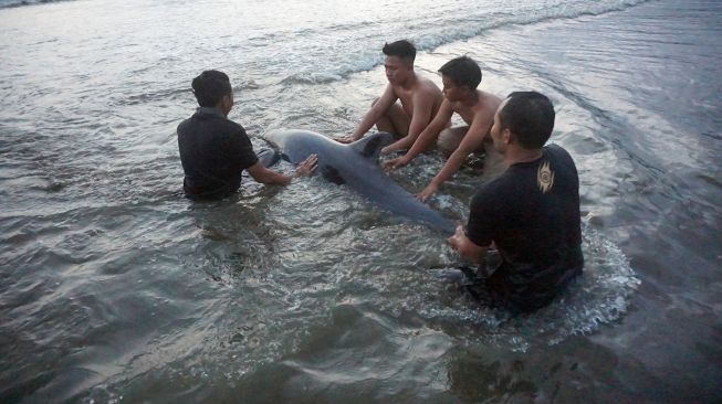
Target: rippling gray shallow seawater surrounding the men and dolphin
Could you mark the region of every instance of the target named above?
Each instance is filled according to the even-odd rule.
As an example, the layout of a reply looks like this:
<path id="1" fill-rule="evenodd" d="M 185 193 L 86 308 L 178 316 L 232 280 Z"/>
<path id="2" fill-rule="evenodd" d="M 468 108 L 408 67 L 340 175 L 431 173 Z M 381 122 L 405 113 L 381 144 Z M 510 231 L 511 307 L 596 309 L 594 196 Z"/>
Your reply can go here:
<path id="1" fill-rule="evenodd" d="M 0 402 L 719 402 L 722 6 L 636 3 L 0 9 Z M 548 308 L 478 308 L 436 281 L 443 235 L 320 178 L 181 196 L 200 71 L 253 136 L 339 136 L 402 36 L 437 82 L 469 54 L 484 89 L 554 100 L 587 266 Z M 441 163 L 393 176 L 414 192 Z M 431 205 L 463 220 L 483 180 Z"/>

